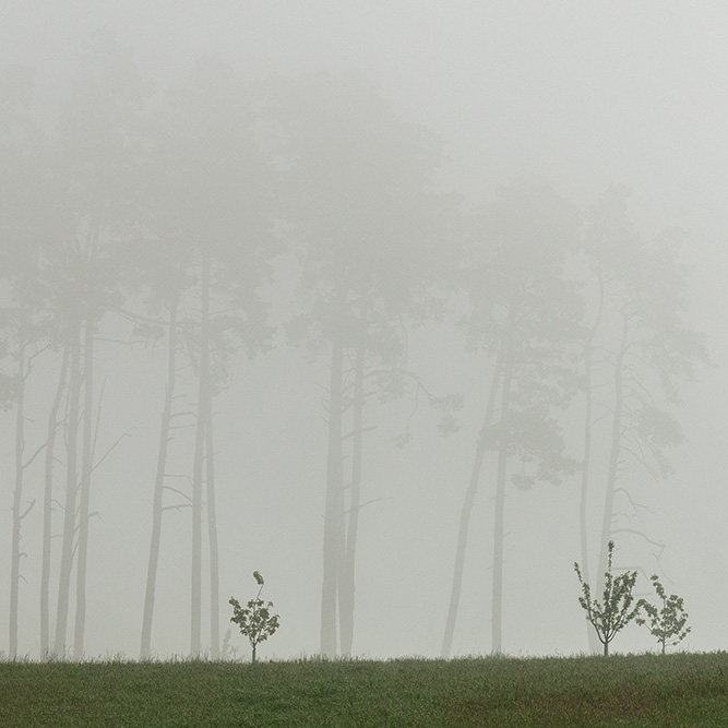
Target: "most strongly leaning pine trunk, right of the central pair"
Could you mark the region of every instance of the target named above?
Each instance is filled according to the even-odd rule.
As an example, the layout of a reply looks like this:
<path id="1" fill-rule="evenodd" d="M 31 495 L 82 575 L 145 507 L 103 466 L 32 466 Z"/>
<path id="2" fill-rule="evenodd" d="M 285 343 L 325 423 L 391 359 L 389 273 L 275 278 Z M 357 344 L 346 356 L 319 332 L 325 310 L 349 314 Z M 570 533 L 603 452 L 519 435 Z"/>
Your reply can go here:
<path id="1" fill-rule="evenodd" d="M 455 569 L 453 573 L 453 584 L 450 592 L 450 607 L 447 609 L 447 621 L 445 622 L 445 634 L 442 640 L 442 649 L 440 652 L 442 657 L 445 658 L 450 657 L 450 653 L 452 652 L 453 647 L 453 639 L 455 636 L 455 622 L 457 621 L 457 611 L 460 609 L 460 598 L 463 588 L 463 570 L 465 568 L 465 550 L 467 547 L 467 537 L 470 527 L 470 515 L 473 514 L 475 497 L 478 491 L 478 485 L 480 482 L 482 463 L 488 450 L 488 429 L 493 421 L 493 411 L 496 409 L 496 398 L 498 396 L 498 387 L 500 385 L 502 368 L 503 355 L 502 351 L 499 351 L 498 358 L 496 360 L 496 369 L 490 382 L 490 392 L 488 393 L 486 414 L 482 418 L 480 433 L 475 446 L 475 458 L 473 461 L 473 469 L 470 470 L 470 480 L 468 481 L 468 486 L 465 491 L 465 501 L 463 502 L 460 527 L 457 529 Z"/>

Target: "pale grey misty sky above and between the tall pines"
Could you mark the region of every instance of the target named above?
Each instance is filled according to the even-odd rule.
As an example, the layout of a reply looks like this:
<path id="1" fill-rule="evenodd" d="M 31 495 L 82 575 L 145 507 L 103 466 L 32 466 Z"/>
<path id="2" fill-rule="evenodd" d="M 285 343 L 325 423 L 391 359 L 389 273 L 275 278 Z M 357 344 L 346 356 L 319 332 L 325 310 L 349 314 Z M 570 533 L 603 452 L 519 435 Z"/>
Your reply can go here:
<path id="1" fill-rule="evenodd" d="M 592 203 L 610 184 L 624 184 L 633 192 L 637 225 L 647 235 L 684 228 L 694 265 L 693 324 L 709 335 L 715 367 L 683 390 L 679 419 L 688 442 L 675 453 L 675 474 L 654 488 L 651 527 L 668 546 L 663 560 L 673 582 L 668 592 L 673 588 L 684 597 L 692 617 L 693 632 L 684 645 L 726 647 L 728 5 L 712 0 L 0 0 L 0 68 L 36 67 L 37 108 L 50 116 L 73 80 L 83 44 L 99 32 L 133 47 L 143 74 L 163 86 L 178 81 L 206 53 L 253 80 L 360 70 L 381 87 L 399 118 L 442 138 L 445 183 L 464 195 L 465 206 L 485 203 L 500 183 L 535 175 L 577 205 Z M 455 387 L 477 398 L 477 362 L 451 335 L 452 343 L 445 342 L 434 358 L 415 342 L 414 357 L 420 356 L 429 368 L 433 386 Z M 266 596 L 275 601 L 282 629 L 264 645 L 263 656 L 312 654 L 318 646 L 325 452 L 324 431 L 311 422 L 320 411 L 317 387 L 325 372 L 297 357 L 282 349 L 244 362 L 246 381 L 219 404 L 220 420 L 230 427 L 220 435 L 220 451 L 240 458 L 222 456 L 220 479 L 244 478 L 248 488 L 230 494 L 220 511 L 223 604 L 228 592 L 248 598 L 250 573 L 264 573 Z M 145 480 L 153 467 L 159 393 L 150 385 L 147 409 L 140 411 L 139 403 L 132 407 L 124 392 L 143 387 L 140 382 L 154 375 L 154 365 L 148 372 L 140 370 L 131 355 L 127 366 L 133 370 L 124 369 L 122 357 L 119 362 L 108 396 L 118 408 L 119 429 L 133 425 L 136 430 L 134 444 L 124 445 L 114 475 L 95 492 L 102 525 L 95 525 L 93 538 L 99 553 L 122 556 L 114 570 L 98 557 L 89 574 L 89 589 L 98 595 L 94 609 L 112 608 L 118 619 L 109 625 L 89 617 L 87 651 L 133 656 L 141 602 L 130 598 L 129 584 L 141 589 L 145 568 Z M 449 373 L 440 377 L 443 371 Z M 289 411 L 315 415 L 296 419 Z M 255 413 L 254 421 L 241 413 Z M 403 404 L 391 418 L 406 416 Z M 422 425 L 427 434 L 405 451 L 385 444 L 389 430 L 368 444 L 373 449 L 379 442 L 383 449 L 368 466 L 368 498 L 386 500 L 370 508 L 361 529 L 357 654 L 438 654 L 478 417 L 477 406 L 466 406 L 463 429 L 446 441 Z M 236 422 L 239 429 L 234 431 Z M 9 426 L 10 419 L 3 419 L 3 427 Z M 10 442 L 10 433 L 3 435 L 9 457 Z M 0 472 L 9 474 L 10 484 L 8 463 Z M 0 488 L 0 494 L 2 511 L 9 512 L 10 485 Z M 476 554 L 490 539 L 489 499 L 489 493 L 479 497 L 478 525 L 468 546 L 473 571 L 466 574 L 458 654 L 488 651 L 489 571 Z M 514 537 L 506 576 L 509 653 L 586 648 L 571 571 L 578 558 L 572 537 L 574 509 L 575 487 L 569 485 L 547 485 L 510 498 L 506 529 Z M 9 540 L 9 515 L 0 521 L 3 541 Z M 186 533 L 187 524 L 180 518 L 176 527 Z M 528 535 L 553 547 L 548 553 L 533 548 Z M 9 569 L 4 548 L 2 578 Z M 159 599 L 158 613 L 165 617 L 157 618 L 155 641 L 159 653 L 168 655 L 183 653 L 187 645 L 187 565 L 182 560 L 176 571 L 174 558 L 165 558 L 170 577 Z M 547 570 L 558 577 L 546 578 Z M 545 597 L 549 589 L 556 594 Z M 527 607 L 544 598 L 568 614 L 552 629 L 534 620 Z M 391 601 L 394 610 L 386 628 L 377 611 L 381 600 Z M 33 619 L 24 622 L 28 635 L 35 629 Z M 7 624 L 4 600 L 0 624 Z M 4 626 L 2 634 L 0 649 Z M 239 635 L 235 639 L 244 652 Z M 24 644 L 32 641 L 28 636 Z M 625 651 L 647 647 L 649 642 L 640 634 L 617 644 Z"/>

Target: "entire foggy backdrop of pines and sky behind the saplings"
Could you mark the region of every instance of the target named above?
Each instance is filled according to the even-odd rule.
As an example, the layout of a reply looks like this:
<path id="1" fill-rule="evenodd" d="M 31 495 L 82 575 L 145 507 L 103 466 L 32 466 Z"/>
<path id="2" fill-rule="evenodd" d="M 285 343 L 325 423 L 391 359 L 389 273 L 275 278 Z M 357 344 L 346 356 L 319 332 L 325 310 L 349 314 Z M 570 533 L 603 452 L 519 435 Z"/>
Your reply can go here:
<path id="1" fill-rule="evenodd" d="M 0 654 L 725 648 L 727 9 L 0 15 Z"/>

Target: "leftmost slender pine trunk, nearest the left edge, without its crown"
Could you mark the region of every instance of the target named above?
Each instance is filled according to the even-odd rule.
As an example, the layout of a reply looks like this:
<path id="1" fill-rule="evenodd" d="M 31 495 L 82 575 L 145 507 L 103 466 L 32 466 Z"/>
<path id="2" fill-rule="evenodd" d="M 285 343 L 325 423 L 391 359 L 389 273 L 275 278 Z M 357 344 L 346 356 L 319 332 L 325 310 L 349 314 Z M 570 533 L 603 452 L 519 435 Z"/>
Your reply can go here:
<path id="1" fill-rule="evenodd" d="M 25 514 L 21 511 L 23 503 L 23 475 L 25 466 L 25 303 L 20 297 L 17 307 L 17 382 L 15 401 L 15 491 L 13 493 L 12 511 L 12 546 L 10 557 L 10 624 L 9 624 L 9 655 L 10 659 L 17 656 L 17 602 L 21 581 L 21 527 Z M 27 513 L 27 512 L 26 512 Z"/>

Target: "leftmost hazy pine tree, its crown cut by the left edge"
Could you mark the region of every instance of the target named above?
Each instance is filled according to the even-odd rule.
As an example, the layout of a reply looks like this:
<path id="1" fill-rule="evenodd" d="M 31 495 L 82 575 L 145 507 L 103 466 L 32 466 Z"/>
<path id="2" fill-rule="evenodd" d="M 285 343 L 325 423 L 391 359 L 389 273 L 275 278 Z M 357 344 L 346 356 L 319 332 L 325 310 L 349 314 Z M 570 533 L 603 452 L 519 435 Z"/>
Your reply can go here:
<path id="1" fill-rule="evenodd" d="M 40 192 L 44 145 L 32 120 L 33 73 L 27 68 L 7 69 L 0 77 L 0 285 L 7 306 L 0 310 L 0 407 L 15 407 L 14 489 L 10 549 L 9 656 L 17 655 L 22 526 L 35 504 L 24 500 L 27 468 L 43 445 L 26 450 L 26 390 L 33 365 L 46 347 L 48 330 L 41 267 L 46 215 Z"/>

